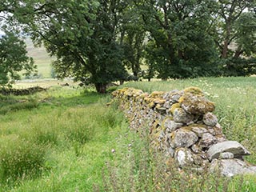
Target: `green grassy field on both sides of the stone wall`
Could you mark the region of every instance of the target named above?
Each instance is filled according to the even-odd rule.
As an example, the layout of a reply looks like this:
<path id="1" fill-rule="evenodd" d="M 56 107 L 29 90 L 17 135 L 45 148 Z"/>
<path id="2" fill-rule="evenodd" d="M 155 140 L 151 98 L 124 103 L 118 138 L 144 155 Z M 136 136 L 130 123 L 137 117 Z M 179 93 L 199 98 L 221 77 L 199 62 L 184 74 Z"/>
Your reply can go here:
<path id="1" fill-rule="evenodd" d="M 246 160 L 256 164 L 255 82 L 198 78 L 125 86 L 149 92 L 198 86 L 215 102 L 226 137 L 246 146 L 252 153 Z M 117 106 L 106 105 L 110 95 L 91 87 L 55 84 L 0 99 L 0 191 L 256 191 L 256 176 L 228 179 L 166 166 L 147 139 L 129 130 Z"/>

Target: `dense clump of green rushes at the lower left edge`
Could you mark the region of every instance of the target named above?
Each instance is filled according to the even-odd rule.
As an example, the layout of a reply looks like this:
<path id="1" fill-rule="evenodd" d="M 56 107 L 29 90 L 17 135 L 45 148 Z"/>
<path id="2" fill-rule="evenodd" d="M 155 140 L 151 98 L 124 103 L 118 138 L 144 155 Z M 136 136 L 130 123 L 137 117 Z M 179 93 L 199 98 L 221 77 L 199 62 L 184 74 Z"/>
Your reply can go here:
<path id="1" fill-rule="evenodd" d="M 31 178 L 42 171 L 46 146 L 38 146 L 18 136 L 0 139 L 0 179 L 12 182 L 18 178 Z"/>

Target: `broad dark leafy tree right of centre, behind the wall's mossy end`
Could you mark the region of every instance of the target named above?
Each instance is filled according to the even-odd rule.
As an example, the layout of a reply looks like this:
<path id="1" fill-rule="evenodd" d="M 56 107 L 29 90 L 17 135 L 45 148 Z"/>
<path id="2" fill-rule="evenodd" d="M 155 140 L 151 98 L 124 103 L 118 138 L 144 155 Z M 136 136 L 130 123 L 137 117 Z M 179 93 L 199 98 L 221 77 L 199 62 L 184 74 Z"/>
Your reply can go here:
<path id="1" fill-rule="evenodd" d="M 217 54 L 207 29 L 213 1 L 137 1 L 149 31 L 147 60 L 158 78 L 214 75 Z"/>

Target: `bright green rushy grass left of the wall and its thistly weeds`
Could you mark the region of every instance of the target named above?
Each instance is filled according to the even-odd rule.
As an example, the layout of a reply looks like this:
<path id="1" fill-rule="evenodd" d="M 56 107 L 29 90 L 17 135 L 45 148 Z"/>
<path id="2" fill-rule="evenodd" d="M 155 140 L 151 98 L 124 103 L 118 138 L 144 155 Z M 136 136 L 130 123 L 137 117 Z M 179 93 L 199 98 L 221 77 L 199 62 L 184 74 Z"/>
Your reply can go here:
<path id="1" fill-rule="evenodd" d="M 92 191 L 128 124 L 109 96 L 54 87 L 0 115 L 0 191 Z M 18 99 L 18 98 L 14 98 Z M 10 104 L 11 105 L 11 104 Z"/>

